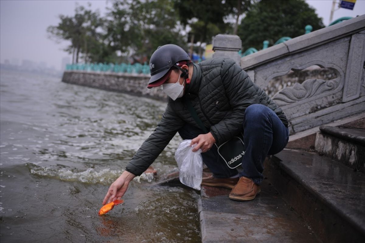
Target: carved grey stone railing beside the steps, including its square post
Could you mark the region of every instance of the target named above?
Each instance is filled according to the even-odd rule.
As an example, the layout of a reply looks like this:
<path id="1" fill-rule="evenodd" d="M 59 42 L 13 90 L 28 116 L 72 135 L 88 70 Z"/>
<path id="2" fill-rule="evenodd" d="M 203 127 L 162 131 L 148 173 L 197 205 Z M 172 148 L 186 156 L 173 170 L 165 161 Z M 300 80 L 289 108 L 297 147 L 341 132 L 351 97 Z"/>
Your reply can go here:
<path id="1" fill-rule="evenodd" d="M 289 120 L 291 134 L 365 113 L 365 15 L 355 17 L 237 60 L 238 36 L 218 35 L 214 57 L 240 62 L 261 89 L 284 75 L 311 67 L 324 68 L 326 79 L 309 78 L 284 85 L 273 95 Z M 216 45 L 215 45 L 216 44 Z M 230 45 L 230 46 L 228 46 Z M 323 76 L 321 76 L 323 77 Z"/>

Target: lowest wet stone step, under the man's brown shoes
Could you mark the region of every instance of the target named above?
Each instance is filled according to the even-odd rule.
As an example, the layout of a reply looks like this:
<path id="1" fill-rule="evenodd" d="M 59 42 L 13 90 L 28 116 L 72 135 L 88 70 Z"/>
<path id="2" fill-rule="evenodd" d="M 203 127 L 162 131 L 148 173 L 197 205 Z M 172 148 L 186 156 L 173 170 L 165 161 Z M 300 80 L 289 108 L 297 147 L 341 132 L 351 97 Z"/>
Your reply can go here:
<path id="1" fill-rule="evenodd" d="M 230 191 L 202 186 L 201 242 L 320 242 L 267 179 L 252 201 L 230 200 Z"/>

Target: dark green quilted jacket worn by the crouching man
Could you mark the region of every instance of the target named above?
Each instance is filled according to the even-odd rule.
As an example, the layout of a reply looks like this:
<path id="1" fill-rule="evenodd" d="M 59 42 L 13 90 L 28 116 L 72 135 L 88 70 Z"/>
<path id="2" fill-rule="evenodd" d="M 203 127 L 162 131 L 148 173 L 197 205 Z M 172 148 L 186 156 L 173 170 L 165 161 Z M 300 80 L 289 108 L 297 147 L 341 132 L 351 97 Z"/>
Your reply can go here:
<path id="1" fill-rule="evenodd" d="M 214 58 L 194 64 L 193 68 L 191 83 L 185 88 L 184 96 L 191 100 L 197 115 L 217 144 L 242 132 L 245 110 L 252 104 L 268 106 L 288 126 L 283 111 L 234 60 Z M 175 101 L 169 98 L 161 121 L 132 157 L 126 170 L 136 176 L 141 175 L 185 123 L 199 128 L 184 103 L 184 97 Z"/>

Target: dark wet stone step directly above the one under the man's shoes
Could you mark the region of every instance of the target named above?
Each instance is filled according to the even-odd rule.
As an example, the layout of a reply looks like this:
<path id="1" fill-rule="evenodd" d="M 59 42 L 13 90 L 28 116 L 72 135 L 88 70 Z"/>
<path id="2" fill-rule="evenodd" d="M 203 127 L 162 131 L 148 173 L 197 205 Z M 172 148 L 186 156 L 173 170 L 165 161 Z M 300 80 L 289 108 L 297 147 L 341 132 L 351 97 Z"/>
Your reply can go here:
<path id="1" fill-rule="evenodd" d="M 323 242 L 365 242 L 365 175 L 316 153 L 284 149 L 266 176 Z"/>

